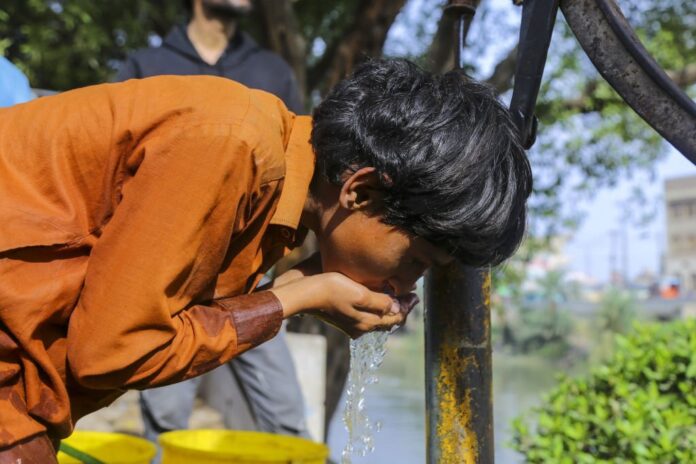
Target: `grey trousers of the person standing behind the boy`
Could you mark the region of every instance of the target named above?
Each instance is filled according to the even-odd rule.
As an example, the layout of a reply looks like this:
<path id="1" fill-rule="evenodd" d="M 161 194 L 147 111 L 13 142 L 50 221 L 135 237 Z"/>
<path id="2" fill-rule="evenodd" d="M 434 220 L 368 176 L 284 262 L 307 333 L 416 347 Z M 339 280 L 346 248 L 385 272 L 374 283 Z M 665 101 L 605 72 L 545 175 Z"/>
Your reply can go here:
<path id="1" fill-rule="evenodd" d="M 239 388 L 235 385 L 238 385 Z M 302 391 L 282 328 L 273 339 L 201 377 L 140 393 L 145 437 L 188 428 L 196 395 L 223 415 L 225 427 L 309 437 Z M 245 403 L 251 414 L 240 409 Z M 239 411 L 242 416 L 239 417 Z M 158 455 L 159 459 L 159 455 Z"/>

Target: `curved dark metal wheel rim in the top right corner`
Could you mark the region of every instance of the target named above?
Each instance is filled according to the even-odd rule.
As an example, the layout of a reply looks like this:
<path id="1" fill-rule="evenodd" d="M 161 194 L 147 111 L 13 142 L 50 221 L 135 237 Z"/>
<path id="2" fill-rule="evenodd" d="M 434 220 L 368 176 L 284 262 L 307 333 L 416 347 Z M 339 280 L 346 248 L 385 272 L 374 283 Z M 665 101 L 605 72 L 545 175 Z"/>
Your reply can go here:
<path id="1" fill-rule="evenodd" d="M 696 103 L 645 50 L 615 0 L 561 0 L 587 56 L 621 98 L 696 164 Z"/>

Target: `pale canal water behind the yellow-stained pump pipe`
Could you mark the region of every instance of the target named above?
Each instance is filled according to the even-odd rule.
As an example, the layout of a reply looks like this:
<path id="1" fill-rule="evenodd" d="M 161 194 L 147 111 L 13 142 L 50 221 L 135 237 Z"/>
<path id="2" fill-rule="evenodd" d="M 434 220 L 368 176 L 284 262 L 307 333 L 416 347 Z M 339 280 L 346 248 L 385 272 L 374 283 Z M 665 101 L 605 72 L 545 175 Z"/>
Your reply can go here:
<path id="1" fill-rule="evenodd" d="M 374 436 L 375 451 L 366 457 L 354 456 L 353 464 L 425 463 L 425 372 L 423 331 L 392 335 L 387 342 L 379 383 L 366 391 L 367 413 L 382 423 Z M 556 384 L 559 370 L 541 357 L 493 355 L 496 463 L 523 462 L 510 449 L 510 422 L 542 400 Z M 341 402 L 341 405 L 344 404 Z M 348 439 L 337 411 L 329 430 L 331 457 L 340 462 Z"/>

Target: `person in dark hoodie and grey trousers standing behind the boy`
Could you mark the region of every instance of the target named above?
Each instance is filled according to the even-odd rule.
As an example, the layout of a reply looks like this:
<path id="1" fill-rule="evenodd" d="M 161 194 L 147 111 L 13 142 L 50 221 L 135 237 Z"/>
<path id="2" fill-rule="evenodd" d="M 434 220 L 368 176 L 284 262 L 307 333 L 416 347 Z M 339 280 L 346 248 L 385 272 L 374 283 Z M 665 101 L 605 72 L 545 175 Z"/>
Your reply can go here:
<path id="1" fill-rule="evenodd" d="M 189 23 L 174 27 L 161 46 L 131 54 L 119 69 L 117 81 L 162 74 L 221 76 L 273 93 L 290 110 L 301 112 L 301 99 L 290 66 L 237 27 L 238 19 L 251 9 L 250 0 L 184 0 L 184 3 L 191 13 Z M 233 393 L 235 381 L 241 394 Z M 156 442 L 159 433 L 188 427 L 200 384 L 201 378 L 197 377 L 141 393 L 148 439 Z M 212 406 L 222 410 L 229 428 L 309 436 L 302 393 L 283 331 L 273 340 L 235 358 L 228 366 L 208 374 L 203 387 Z M 235 416 L 240 411 L 238 407 L 227 407 L 242 398 L 246 399 L 252 418 L 247 413 L 241 414 L 246 419 L 240 419 Z"/>

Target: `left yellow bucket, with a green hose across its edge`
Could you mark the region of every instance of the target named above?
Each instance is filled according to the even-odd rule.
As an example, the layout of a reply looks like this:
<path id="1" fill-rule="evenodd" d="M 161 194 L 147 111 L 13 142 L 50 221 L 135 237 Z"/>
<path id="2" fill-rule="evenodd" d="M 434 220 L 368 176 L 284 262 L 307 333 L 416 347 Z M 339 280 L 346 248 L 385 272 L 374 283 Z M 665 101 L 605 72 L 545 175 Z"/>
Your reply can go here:
<path id="1" fill-rule="evenodd" d="M 123 433 L 78 430 L 63 442 L 108 464 L 150 464 L 157 453 L 153 443 Z M 82 461 L 60 451 L 58 462 L 78 464 Z"/>

